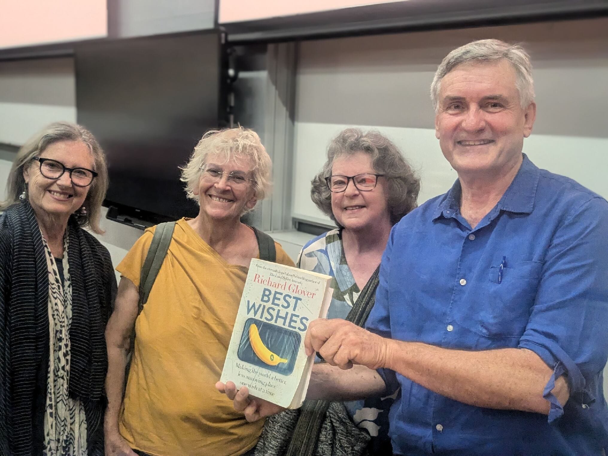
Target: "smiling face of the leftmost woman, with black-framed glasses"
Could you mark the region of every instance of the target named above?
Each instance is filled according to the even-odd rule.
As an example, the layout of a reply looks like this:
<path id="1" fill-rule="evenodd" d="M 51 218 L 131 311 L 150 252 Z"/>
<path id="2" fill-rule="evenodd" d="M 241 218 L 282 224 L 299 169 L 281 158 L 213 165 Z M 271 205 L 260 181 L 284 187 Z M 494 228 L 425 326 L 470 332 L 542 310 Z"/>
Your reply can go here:
<path id="1" fill-rule="evenodd" d="M 95 169 L 95 163 L 89 147 L 81 141 L 60 141 L 50 144 L 42 158 L 61 162 L 68 168 Z M 32 160 L 23 168 L 23 178 L 27 184 L 29 202 L 37 216 L 54 216 L 68 218 L 85 202 L 89 193 L 88 187 L 77 187 L 72 184 L 69 171 L 59 179 L 48 179 L 40 173 L 40 163 Z"/>

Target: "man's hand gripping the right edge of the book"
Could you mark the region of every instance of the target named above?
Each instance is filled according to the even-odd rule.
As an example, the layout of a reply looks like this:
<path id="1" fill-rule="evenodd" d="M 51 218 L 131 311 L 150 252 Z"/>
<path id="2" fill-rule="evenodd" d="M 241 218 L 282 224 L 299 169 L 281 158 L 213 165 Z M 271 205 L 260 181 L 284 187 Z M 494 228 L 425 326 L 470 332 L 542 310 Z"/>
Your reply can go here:
<path id="1" fill-rule="evenodd" d="M 388 340 L 342 319 L 317 319 L 308 325 L 304 346 L 310 356 L 315 351 L 327 364 L 350 369 L 362 364 L 370 369 L 385 367 Z"/>

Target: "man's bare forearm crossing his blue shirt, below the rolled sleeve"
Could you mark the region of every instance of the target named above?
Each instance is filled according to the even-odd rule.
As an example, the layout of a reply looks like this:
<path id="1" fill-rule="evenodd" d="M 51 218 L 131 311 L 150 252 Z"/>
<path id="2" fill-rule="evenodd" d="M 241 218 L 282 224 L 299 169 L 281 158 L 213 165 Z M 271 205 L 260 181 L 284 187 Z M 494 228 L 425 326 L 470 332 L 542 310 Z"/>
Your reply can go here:
<path id="1" fill-rule="evenodd" d="M 552 370 L 530 350 L 449 350 L 387 340 L 384 364 L 429 390 L 472 406 L 545 415 L 550 410 L 543 390 Z M 556 381 L 553 392 L 562 404 L 567 401 L 564 378 Z"/>

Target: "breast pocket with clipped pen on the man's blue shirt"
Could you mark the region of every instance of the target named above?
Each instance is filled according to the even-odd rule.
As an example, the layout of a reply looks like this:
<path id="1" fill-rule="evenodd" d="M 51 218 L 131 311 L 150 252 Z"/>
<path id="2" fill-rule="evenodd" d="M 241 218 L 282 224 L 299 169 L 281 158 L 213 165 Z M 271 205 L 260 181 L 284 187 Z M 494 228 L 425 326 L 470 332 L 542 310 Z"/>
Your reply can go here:
<path id="1" fill-rule="evenodd" d="M 478 330 L 486 337 L 520 337 L 525 331 L 530 309 L 541 280 L 542 262 L 524 261 L 489 270 L 486 305 L 478 314 Z"/>

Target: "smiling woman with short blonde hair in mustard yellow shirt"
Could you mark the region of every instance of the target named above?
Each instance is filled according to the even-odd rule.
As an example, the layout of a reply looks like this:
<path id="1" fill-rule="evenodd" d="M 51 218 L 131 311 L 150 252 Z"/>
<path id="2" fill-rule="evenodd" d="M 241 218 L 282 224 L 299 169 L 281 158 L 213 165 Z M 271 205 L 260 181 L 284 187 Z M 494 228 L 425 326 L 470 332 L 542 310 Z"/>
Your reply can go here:
<path id="1" fill-rule="evenodd" d="M 137 316 L 139 277 L 154 227 L 117 270 L 122 274 L 106 330 L 106 455 L 242 455 L 263 423 L 247 423 L 215 390 L 252 258 L 254 230 L 241 216 L 270 187 L 270 157 L 252 130 L 205 134 L 182 169 L 193 219 L 176 223 L 148 301 Z M 275 244 L 277 263 L 293 262 Z M 135 347 L 125 382 L 130 334 Z"/>

